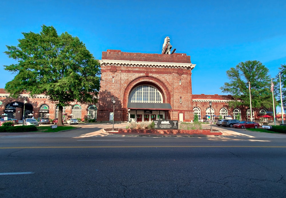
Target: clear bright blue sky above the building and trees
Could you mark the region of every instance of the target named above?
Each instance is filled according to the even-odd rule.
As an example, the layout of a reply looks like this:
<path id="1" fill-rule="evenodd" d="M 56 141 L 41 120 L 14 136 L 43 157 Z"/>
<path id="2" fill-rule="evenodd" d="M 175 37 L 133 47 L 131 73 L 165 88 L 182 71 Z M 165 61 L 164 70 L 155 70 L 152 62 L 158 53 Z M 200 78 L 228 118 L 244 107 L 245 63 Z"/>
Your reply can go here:
<path id="1" fill-rule="evenodd" d="M 166 36 L 191 56 L 193 94 L 226 94 L 226 71 L 259 60 L 275 77 L 286 64 L 286 1 L 1 1 L 0 51 L 21 32 L 54 26 L 78 36 L 96 59 L 108 49 L 161 53 Z M 0 64 L 15 61 L 0 53 Z M 1 67 L 0 88 L 14 78 Z"/>

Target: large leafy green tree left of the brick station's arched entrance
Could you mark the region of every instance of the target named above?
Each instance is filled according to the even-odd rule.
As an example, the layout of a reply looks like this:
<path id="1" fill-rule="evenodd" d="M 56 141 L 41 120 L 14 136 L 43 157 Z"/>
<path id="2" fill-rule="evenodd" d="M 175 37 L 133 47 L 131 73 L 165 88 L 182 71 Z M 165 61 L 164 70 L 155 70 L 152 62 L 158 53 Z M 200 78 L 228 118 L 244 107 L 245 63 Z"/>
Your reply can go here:
<path id="1" fill-rule="evenodd" d="M 5 90 L 17 98 L 24 91 L 31 97 L 45 94 L 59 106 L 71 102 L 96 103 L 100 89 L 100 63 L 78 37 L 67 32 L 61 35 L 52 26 L 42 26 L 40 33 L 22 33 L 17 46 L 7 46 L 4 52 L 17 64 L 4 66 L 15 78 Z M 62 116 L 58 118 L 62 125 Z"/>

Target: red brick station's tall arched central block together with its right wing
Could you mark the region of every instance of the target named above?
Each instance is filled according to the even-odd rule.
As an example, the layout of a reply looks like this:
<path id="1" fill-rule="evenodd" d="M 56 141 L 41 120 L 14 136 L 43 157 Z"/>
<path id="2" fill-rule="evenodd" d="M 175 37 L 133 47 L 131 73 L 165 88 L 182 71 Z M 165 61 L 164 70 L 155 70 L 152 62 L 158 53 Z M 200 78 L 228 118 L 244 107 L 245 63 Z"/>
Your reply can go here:
<path id="1" fill-rule="evenodd" d="M 192 94 L 190 56 L 182 53 L 143 54 L 107 50 L 102 52 L 101 88 L 98 104 L 98 121 L 150 122 L 171 119 L 191 122 L 194 113 L 201 118 L 250 119 L 246 107 L 230 109 L 230 95 Z M 209 102 L 212 101 L 210 111 Z M 266 109 L 253 109 L 253 118 Z M 225 117 L 227 116 L 227 117 Z"/>

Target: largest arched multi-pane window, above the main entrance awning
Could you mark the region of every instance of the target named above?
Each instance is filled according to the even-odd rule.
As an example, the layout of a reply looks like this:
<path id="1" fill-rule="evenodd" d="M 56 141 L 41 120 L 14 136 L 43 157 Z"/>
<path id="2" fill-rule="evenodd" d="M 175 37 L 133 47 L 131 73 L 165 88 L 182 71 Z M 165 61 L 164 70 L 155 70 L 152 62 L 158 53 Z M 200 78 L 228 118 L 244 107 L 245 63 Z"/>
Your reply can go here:
<path id="1" fill-rule="evenodd" d="M 161 92 L 151 85 L 140 85 L 131 91 L 130 102 L 163 103 Z"/>

